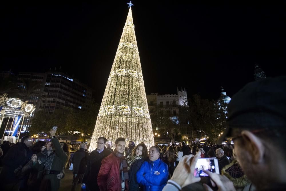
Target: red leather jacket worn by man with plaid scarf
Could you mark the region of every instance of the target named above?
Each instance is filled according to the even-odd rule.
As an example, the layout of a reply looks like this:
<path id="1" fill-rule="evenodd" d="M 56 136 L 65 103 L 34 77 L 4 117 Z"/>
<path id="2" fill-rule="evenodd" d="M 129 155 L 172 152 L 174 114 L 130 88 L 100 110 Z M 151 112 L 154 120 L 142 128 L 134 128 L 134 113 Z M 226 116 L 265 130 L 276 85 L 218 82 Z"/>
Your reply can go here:
<path id="1" fill-rule="evenodd" d="M 97 184 L 100 191 L 121 191 L 120 176 L 121 159 L 113 153 L 101 161 L 101 167 L 97 176 Z M 125 191 L 128 190 L 128 181 L 125 181 Z"/>

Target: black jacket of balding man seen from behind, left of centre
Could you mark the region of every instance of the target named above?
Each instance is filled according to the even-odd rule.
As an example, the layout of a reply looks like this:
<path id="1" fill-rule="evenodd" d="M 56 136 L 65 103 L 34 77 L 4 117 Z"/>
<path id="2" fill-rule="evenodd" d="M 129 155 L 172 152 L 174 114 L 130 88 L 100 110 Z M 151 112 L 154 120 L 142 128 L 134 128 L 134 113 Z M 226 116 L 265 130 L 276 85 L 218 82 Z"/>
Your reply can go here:
<path id="1" fill-rule="evenodd" d="M 86 172 L 86 165 L 88 163 L 88 152 L 83 148 L 74 152 L 74 156 L 72 157 L 73 164 L 73 174 L 84 174 Z"/>

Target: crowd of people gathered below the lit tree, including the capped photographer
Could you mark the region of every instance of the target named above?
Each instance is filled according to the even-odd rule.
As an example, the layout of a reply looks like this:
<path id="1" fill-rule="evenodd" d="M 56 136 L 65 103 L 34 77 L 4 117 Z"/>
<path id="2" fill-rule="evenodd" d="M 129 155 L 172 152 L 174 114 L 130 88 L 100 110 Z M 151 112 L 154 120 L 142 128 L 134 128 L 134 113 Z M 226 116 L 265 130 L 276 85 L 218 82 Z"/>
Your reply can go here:
<path id="1" fill-rule="evenodd" d="M 218 141 L 224 145 L 182 142 L 148 149 L 143 142 L 126 143 L 122 137 L 116 139 L 114 149 L 105 137 L 98 138 L 90 153 L 85 143 L 76 145 L 72 190 L 78 182 L 82 190 L 91 191 L 285 190 L 285 88 L 285 77 L 268 78 L 235 94 L 228 105 L 227 129 Z M 48 143 L 32 146 L 32 137 L 25 136 L 13 146 L 9 141 L 0 145 L 1 189 L 59 189 L 74 145 L 60 143 L 55 133 L 50 130 Z M 216 158 L 219 174 L 202 169 L 208 177 L 195 177 L 199 158 Z"/>

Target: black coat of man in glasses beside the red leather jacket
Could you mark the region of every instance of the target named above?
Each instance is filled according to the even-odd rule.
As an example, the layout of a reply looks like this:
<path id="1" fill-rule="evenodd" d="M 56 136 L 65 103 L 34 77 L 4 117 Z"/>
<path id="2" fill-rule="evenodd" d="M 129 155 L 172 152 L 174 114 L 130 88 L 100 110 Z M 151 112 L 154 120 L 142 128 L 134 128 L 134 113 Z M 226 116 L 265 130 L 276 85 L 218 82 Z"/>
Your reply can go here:
<path id="1" fill-rule="evenodd" d="M 88 163 L 86 166 L 86 172 L 84 173 L 84 178 L 82 180 L 82 183 L 86 183 L 91 191 L 99 190 L 97 184 L 97 176 L 100 170 L 101 161 L 103 158 L 107 157 L 111 153 L 112 152 L 106 149 L 106 147 L 104 147 L 101 153 L 98 153 L 97 149 L 95 149 L 90 153 L 90 156 L 88 158 Z"/>

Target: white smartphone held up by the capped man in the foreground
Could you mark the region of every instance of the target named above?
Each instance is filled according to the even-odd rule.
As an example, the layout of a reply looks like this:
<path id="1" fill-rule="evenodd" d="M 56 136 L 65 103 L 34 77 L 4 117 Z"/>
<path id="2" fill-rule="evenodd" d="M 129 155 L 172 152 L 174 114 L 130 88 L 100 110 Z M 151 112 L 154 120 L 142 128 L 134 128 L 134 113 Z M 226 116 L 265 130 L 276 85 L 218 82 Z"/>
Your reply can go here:
<path id="1" fill-rule="evenodd" d="M 208 170 L 211 173 L 219 174 L 219 162 L 216 158 L 199 158 L 195 166 L 195 177 L 208 176 L 202 170 Z"/>

